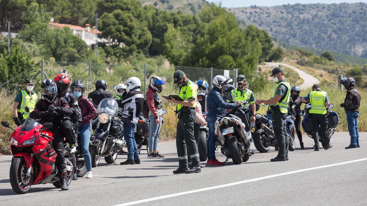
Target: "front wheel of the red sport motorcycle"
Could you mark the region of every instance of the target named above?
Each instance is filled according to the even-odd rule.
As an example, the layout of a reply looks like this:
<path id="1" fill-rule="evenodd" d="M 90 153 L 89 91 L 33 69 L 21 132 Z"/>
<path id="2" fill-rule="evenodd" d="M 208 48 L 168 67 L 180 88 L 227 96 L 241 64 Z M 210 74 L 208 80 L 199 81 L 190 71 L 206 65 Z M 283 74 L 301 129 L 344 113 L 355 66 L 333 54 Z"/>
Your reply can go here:
<path id="1" fill-rule="evenodd" d="M 25 194 L 29 191 L 33 183 L 33 173 L 26 176 L 26 164 L 23 157 L 14 157 L 10 166 L 10 184 L 14 192 Z"/>

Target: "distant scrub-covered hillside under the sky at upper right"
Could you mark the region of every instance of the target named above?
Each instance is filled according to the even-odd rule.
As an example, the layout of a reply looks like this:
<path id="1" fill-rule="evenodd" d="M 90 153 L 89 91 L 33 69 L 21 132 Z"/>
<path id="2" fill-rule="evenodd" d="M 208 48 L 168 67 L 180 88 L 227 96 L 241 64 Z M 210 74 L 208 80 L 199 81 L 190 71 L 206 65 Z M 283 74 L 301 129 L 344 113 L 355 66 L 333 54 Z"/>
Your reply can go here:
<path id="1" fill-rule="evenodd" d="M 241 23 L 288 44 L 367 57 L 367 4 L 295 4 L 229 8 Z"/>

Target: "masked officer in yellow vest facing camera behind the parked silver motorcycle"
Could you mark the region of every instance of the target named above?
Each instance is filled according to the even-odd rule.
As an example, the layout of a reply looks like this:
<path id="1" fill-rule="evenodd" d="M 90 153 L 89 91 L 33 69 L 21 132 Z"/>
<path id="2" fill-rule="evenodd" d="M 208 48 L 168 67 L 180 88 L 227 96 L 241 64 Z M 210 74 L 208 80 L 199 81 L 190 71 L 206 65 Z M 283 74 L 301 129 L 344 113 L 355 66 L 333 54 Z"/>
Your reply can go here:
<path id="1" fill-rule="evenodd" d="M 231 95 L 228 96 L 227 102 L 234 101 L 237 102 L 238 100 L 242 102 L 247 102 L 245 105 L 242 105 L 243 109 L 247 109 L 251 106 L 251 110 L 246 113 L 246 118 L 249 121 L 255 122 L 255 114 L 256 114 L 256 106 L 255 106 L 255 96 L 254 93 L 245 87 L 246 79 L 244 75 L 239 75 L 236 79 L 238 87 L 233 89 Z M 250 120 L 250 113 L 252 112 L 252 117 Z"/>

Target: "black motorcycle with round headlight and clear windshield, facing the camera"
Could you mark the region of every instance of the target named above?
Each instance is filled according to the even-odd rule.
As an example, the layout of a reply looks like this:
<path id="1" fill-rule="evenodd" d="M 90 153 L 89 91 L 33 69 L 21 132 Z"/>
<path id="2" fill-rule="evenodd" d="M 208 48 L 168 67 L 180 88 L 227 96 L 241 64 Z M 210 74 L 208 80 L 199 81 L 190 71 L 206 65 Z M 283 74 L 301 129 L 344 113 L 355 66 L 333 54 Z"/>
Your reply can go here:
<path id="1" fill-rule="evenodd" d="M 129 112 L 133 107 L 127 109 Z M 92 148 L 91 160 L 92 167 L 96 167 L 101 157 L 105 158 L 106 163 L 115 165 L 117 151 L 124 146 L 123 125 L 117 116 L 130 117 L 130 115 L 119 111 L 119 106 L 115 99 L 105 98 L 98 107 L 98 118 L 92 123 L 94 136 L 91 136 Z"/>

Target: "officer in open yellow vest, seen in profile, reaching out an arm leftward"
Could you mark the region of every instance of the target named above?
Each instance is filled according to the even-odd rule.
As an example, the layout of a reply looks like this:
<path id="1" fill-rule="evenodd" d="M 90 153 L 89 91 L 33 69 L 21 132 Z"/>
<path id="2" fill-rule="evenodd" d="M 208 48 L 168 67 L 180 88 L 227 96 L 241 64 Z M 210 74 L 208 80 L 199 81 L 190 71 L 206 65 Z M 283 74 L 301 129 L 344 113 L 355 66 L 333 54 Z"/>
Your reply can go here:
<path id="1" fill-rule="evenodd" d="M 287 161 L 288 158 L 288 138 L 286 138 L 286 117 L 288 113 L 288 102 L 291 88 L 283 70 L 276 67 L 272 70 L 273 81 L 278 82 L 273 92 L 273 96 L 268 100 L 256 100 L 256 104 L 269 104 L 272 110 L 272 121 L 275 139 L 278 142 L 279 152 L 277 157 L 270 159 L 272 162 Z"/>

